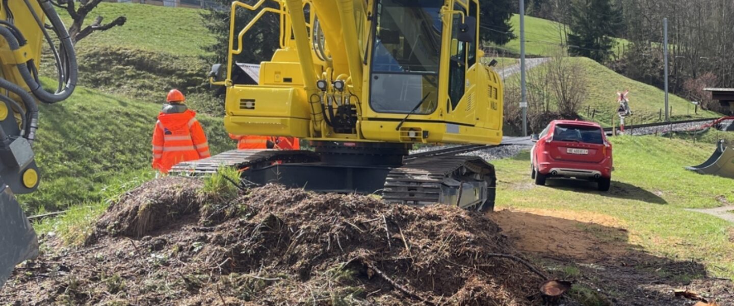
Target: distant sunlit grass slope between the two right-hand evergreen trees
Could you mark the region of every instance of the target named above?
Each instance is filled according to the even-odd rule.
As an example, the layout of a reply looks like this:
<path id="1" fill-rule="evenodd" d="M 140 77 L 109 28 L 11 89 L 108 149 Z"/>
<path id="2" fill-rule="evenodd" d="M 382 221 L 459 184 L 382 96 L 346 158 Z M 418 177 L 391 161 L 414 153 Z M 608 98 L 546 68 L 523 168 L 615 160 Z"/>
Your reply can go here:
<path id="1" fill-rule="evenodd" d="M 514 40 L 501 46 L 507 51 L 520 54 L 520 15 L 512 15 L 510 19 Z M 549 57 L 558 54 L 560 48 L 566 43 L 566 37 L 562 34 L 562 24 L 547 19 L 525 16 L 525 51 L 528 55 Z M 484 29 L 484 31 L 487 31 Z M 627 45 L 628 40 L 614 38 L 615 45 L 612 51 L 619 55 L 622 45 Z"/>

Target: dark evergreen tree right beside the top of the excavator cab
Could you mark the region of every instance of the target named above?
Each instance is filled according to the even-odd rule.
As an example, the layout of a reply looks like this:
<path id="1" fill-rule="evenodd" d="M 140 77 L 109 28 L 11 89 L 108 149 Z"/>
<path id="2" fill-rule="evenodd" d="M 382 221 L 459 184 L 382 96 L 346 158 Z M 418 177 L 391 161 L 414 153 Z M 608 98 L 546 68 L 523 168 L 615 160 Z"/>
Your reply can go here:
<path id="1" fill-rule="evenodd" d="M 514 0 L 484 0 L 479 1 L 479 5 L 482 40 L 504 45 L 515 38 L 509 24 L 517 8 Z"/>

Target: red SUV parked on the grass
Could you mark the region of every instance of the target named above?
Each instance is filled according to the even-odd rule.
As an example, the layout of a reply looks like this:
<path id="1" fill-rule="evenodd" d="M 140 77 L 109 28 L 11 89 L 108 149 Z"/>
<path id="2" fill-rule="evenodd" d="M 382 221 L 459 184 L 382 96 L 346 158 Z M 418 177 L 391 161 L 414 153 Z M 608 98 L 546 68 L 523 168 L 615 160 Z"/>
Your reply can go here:
<path id="1" fill-rule="evenodd" d="M 532 136 L 531 177 L 537 185 L 547 178 L 577 178 L 598 183 L 606 192 L 611 184 L 611 144 L 597 123 L 554 120 Z"/>

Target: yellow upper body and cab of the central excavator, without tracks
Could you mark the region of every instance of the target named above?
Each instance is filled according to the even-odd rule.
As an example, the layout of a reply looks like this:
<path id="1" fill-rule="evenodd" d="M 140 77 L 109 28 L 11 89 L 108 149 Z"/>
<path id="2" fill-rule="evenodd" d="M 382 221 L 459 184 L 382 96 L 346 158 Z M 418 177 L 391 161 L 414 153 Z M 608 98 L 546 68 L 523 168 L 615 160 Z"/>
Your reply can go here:
<path id="1" fill-rule="evenodd" d="M 233 14 L 265 10 L 261 2 L 236 1 Z M 480 61 L 478 1 L 277 3 L 278 9 L 267 10 L 280 15 L 281 48 L 260 63 L 258 85 L 231 81 L 236 48 L 230 48 L 227 78 L 215 82 L 227 87 L 225 126 L 231 133 L 501 142 L 503 86 Z M 244 30 L 234 24 L 230 29 L 230 47 L 246 43 Z"/>

